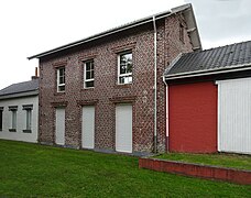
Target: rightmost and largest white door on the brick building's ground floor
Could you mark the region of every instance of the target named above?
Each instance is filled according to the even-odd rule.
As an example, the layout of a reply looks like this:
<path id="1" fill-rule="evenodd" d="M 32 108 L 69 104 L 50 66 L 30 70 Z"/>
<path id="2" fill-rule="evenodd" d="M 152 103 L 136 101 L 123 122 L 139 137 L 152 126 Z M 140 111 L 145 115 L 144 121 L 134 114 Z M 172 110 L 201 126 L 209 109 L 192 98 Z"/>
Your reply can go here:
<path id="1" fill-rule="evenodd" d="M 132 153 L 132 106 L 116 106 L 116 151 Z"/>

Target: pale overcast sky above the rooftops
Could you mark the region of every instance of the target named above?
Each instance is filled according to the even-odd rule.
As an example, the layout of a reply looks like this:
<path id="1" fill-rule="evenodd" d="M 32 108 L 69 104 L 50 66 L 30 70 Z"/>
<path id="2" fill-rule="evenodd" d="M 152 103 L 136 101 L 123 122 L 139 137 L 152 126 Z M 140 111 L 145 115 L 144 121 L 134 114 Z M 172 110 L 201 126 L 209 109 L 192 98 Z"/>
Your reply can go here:
<path id="1" fill-rule="evenodd" d="M 2 0 L 0 89 L 30 80 L 28 56 L 188 2 L 204 50 L 251 40 L 251 0 Z"/>

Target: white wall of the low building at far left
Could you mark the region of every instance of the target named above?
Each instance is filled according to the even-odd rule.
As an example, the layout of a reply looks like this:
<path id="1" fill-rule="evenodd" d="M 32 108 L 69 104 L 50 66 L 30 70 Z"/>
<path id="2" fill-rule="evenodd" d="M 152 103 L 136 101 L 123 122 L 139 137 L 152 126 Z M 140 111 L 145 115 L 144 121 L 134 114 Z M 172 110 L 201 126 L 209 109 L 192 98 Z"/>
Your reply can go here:
<path id="1" fill-rule="evenodd" d="M 23 130 L 26 129 L 26 111 L 23 110 L 23 105 L 33 105 L 32 133 L 23 132 Z M 9 106 L 18 106 L 17 132 L 9 131 L 9 129 L 11 129 L 11 123 L 12 123 L 12 113 L 11 111 L 9 111 Z M 0 139 L 24 141 L 24 142 L 37 142 L 39 96 L 0 100 L 0 107 L 3 107 L 2 131 L 0 131 Z"/>

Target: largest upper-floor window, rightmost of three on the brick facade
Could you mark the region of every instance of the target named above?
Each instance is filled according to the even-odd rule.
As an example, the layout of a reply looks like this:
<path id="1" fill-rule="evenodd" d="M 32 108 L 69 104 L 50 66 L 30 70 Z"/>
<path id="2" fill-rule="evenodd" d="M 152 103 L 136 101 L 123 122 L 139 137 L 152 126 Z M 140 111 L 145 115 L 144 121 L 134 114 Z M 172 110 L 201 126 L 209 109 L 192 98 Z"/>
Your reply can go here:
<path id="1" fill-rule="evenodd" d="M 127 52 L 118 56 L 118 84 L 132 82 L 132 53 Z"/>

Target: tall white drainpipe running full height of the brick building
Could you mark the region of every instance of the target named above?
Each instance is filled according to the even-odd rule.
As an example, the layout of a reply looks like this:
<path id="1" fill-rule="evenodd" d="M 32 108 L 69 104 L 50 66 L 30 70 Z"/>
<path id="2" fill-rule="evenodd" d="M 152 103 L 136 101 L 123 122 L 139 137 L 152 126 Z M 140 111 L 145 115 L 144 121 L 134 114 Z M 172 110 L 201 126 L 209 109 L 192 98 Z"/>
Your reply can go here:
<path id="1" fill-rule="evenodd" d="M 157 130 L 156 130 L 156 61 L 157 61 L 157 54 L 156 54 L 156 21 L 155 15 L 153 15 L 153 28 L 154 28 L 154 139 L 153 139 L 153 152 L 157 153 Z"/>

